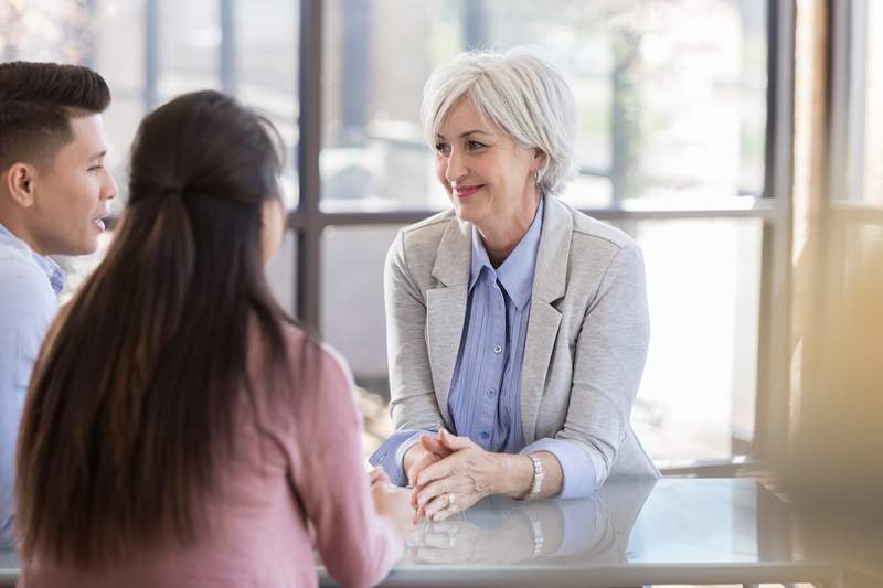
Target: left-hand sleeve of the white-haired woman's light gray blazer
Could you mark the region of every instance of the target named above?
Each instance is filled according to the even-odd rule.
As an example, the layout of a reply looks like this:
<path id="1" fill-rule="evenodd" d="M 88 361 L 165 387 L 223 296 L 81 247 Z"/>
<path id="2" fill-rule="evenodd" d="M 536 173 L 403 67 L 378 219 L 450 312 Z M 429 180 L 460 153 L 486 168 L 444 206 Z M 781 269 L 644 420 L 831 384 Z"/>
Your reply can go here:
<path id="1" fill-rule="evenodd" d="M 390 416 L 395 430 L 437 430 L 442 413 L 433 386 L 426 345 L 426 302 L 405 258 L 400 232 L 383 272 Z"/>

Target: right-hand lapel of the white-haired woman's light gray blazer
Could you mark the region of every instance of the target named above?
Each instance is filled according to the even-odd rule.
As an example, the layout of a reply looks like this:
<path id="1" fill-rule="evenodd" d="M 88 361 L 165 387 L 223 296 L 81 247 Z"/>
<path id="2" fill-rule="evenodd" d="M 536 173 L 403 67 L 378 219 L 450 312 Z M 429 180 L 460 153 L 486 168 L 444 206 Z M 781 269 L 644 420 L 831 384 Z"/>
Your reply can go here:
<path id="1" fill-rule="evenodd" d="M 543 232 L 536 252 L 531 316 L 521 366 L 521 427 L 525 443 L 533 442 L 536 435 L 536 416 L 561 324 L 561 312 L 553 303 L 567 288 L 573 235 L 573 217 L 567 207 L 556 197 L 544 197 Z"/>

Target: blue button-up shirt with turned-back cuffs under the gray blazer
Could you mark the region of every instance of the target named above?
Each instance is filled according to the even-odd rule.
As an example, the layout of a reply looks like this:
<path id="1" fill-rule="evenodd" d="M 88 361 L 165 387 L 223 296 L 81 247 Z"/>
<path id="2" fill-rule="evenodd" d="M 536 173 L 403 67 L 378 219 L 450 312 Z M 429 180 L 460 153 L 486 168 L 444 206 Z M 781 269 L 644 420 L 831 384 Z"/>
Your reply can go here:
<path id="1" fill-rule="evenodd" d="M 573 443 L 551 438 L 525 446 L 521 428 L 521 365 L 542 220 L 540 199 L 528 233 L 497 269 L 472 227 L 466 320 L 448 395 L 455 427 L 451 432 L 493 452 L 549 451 L 564 473 L 561 498 L 584 498 L 595 492 L 595 467 L 588 455 Z M 406 485 L 404 456 L 428 432 L 396 431 L 369 461 L 382 466 L 393 483 Z"/>

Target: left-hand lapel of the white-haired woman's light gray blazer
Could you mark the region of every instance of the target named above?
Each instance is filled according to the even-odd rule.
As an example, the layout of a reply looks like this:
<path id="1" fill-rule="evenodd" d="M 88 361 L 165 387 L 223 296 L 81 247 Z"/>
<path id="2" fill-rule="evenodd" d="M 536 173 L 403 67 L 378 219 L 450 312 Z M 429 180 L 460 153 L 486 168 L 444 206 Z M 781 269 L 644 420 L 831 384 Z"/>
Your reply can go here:
<path id="1" fill-rule="evenodd" d="M 426 292 L 426 343 L 433 385 L 445 426 L 451 431 L 454 424 L 448 411 L 448 392 L 466 320 L 471 256 L 469 225 L 451 218 L 433 266 L 433 277 L 439 281 L 439 287 Z"/>

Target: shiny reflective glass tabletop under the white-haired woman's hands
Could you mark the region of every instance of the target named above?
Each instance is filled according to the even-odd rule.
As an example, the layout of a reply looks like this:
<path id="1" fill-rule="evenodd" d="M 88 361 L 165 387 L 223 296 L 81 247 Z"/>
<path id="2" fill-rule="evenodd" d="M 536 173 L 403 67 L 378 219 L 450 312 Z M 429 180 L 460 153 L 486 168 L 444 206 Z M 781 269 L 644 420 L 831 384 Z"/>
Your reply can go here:
<path id="1" fill-rule="evenodd" d="M 789 509 L 753 480 L 608 482 L 591 500 L 493 496 L 421 523 L 398 568 L 792 560 Z"/>

